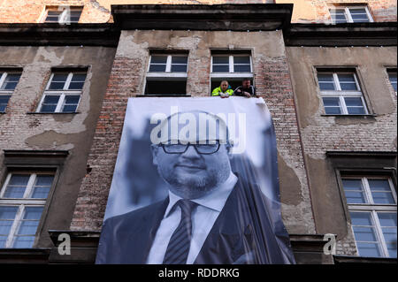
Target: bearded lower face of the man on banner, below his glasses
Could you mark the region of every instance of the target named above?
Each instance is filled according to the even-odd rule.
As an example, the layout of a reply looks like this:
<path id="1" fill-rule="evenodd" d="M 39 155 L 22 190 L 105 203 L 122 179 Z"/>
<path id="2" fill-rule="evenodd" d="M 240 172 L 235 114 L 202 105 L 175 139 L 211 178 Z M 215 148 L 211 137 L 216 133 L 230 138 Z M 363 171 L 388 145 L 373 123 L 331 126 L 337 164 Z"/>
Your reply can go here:
<path id="1" fill-rule="evenodd" d="M 208 194 L 225 182 L 231 172 L 226 144 L 220 144 L 218 151 L 209 155 L 199 153 L 193 145 L 180 154 L 169 154 L 162 146 L 152 145 L 152 153 L 160 176 L 174 194 L 185 199 Z"/>

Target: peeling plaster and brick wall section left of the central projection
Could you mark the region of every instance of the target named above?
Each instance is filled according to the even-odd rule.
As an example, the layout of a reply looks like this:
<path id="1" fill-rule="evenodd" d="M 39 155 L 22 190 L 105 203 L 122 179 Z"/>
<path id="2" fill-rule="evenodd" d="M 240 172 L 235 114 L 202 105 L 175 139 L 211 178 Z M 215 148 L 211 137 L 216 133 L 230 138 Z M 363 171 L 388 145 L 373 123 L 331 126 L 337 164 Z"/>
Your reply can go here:
<path id="1" fill-rule="evenodd" d="M 115 51 L 103 47 L 0 47 L 0 69 L 23 69 L 6 112 L 0 114 L 0 171 L 6 172 L 4 149 L 69 151 L 42 228 L 40 247 L 51 245 L 49 229 L 69 228 Z M 51 68 L 59 66 L 88 67 L 78 112 L 34 113 Z"/>

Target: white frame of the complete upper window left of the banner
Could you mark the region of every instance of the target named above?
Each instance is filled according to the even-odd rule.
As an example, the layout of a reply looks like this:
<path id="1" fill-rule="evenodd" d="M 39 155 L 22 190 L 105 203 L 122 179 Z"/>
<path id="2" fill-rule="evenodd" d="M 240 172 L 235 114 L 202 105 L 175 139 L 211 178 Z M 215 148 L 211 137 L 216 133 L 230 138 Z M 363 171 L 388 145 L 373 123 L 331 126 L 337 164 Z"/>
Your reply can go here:
<path id="1" fill-rule="evenodd" d="M 54 78 L 54 74 L 57 74 L 58 72 L 52 72 L 51 76 L 50 76 L 50 80 L 47 82 L 47 86 L 46 86 L 46 90 L 44 91 L 43 95 L 42 95 L 42 99 L 40 100 L 40 103 L 37 107 L 36 112 L 42 112 L 42 103 L 44 102 L 44 98 L 46 95 L 59 95 L 59 100 L 57 103 L 57 107 L 55 109 L 55 111 L 43 111 L 42 113 L 55 113 L 55 112 L 63 112 L 62 109 L 65 106 L 65 96 L 66 95 L 79 95 L 79 102 L 76 105 L 76 110 L 73 112 L 77 112 L 79 105 L 80 105 L 80 101 L 81 101 L 81 95 L 83 93 L 83 88 L 84 88 L 84 84 L 86 82 L 83 83 L 83 88 L 81 88 L 81 90 L 69 90 L 69 85 L 71 84 L 72 78 L 73 78 L 73 74 L 78 74 L 78 73 L 86 73 L 86 72 L 69 72 L 68 76 L 66 78 L 65 84 L 64 84 L 64 88 L 62 90 L 50 90 L 50 84 L 52 79 Z M 87 79 L 87 76 L 86 76 Z M 65 113 L 73 113 L 70 111 L 66 111 Z"/>

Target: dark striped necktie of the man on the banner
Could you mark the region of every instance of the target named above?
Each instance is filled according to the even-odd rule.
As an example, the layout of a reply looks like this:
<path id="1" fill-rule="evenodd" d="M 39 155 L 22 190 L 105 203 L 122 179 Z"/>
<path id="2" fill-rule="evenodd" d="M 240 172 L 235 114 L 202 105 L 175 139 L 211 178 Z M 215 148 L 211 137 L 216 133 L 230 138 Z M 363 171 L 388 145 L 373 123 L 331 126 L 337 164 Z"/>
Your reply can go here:
<path id="1" fill-rule="evenodd" d="M 197 203 L 182 199 L 176 205 L 181 209 L 181 220 L 177 229 L 172 233 L 169 245 L 165 252 L 164 264 L 185 264 L 187 263 L 189 247 L 192 235 L 192 211 Z"/>

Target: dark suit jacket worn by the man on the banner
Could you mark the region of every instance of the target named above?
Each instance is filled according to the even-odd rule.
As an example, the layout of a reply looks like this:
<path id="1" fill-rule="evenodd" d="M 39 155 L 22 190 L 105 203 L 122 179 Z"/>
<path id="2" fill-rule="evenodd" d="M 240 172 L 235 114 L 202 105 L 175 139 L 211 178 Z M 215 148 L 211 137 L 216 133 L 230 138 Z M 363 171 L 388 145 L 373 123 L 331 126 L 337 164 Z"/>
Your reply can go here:
<path id="1" fill-rule="evenodd" d="M 168 202 L 105 220 L 96 263 L 146 263 Z M 194 263 L 294 263 L 281 218 L 272 222 L 274 204 L 238 179 Z"/>

